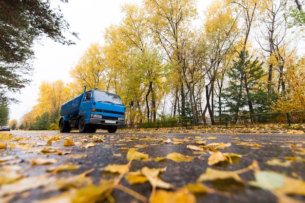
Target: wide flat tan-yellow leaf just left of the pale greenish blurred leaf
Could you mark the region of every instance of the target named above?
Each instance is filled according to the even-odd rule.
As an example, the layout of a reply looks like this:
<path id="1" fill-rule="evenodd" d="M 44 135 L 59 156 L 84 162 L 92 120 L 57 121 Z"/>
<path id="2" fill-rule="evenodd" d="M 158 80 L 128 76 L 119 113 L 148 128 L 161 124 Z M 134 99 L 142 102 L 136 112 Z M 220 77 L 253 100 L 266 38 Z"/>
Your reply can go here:
<path id="1" fill-rule="evenodd" d="M 238 173 L 238 171 L 224 171 L 208 167 L 206 172 L 199 176 L 197 182 L 234 179 L 236 182 L 244 183 Z"/>

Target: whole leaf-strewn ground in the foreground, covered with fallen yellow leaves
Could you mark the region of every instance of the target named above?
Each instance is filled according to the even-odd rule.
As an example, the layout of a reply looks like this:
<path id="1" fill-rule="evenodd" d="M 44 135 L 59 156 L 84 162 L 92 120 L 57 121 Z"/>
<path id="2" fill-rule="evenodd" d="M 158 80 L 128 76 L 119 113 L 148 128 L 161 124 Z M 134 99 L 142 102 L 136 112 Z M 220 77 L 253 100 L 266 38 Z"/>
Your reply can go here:
<path id="1" fill-rule="evenodd" d="M 196 203 L 257 189 L 279 203 L 305 201 L 304 136 L 286 141 L 178 136 L 0 132 L 0 202 L 114 203 L 127 195 L 132 203 Z M 273 147 L 283 152 L 280 158 L 257 156 Z M 234 153 L 237 149 L 244 153 Z"/>

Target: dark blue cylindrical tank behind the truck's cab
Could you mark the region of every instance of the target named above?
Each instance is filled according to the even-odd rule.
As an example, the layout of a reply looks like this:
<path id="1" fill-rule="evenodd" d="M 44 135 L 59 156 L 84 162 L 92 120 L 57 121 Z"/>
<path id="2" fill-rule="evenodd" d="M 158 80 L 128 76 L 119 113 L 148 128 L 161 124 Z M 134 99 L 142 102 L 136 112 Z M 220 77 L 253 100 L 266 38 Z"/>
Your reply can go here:
<path id="1" fill-rule="evenodd" d="M 60 109 L 60 115 L 65 117 L 76 117 L 78 115 L 79 105 L 84 93 L 63 103 Z"/>

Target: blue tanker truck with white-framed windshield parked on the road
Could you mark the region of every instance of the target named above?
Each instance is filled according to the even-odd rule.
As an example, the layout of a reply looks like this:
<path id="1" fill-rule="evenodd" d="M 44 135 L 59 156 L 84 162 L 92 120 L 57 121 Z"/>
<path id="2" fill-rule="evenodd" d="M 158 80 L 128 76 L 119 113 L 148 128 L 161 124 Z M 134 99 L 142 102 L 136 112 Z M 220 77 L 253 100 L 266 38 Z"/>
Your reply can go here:
<path id="1" fill-rule="evenodd" d="M 61 105 L 59 120 L 60 132 L 95 132 L 107 129 L 115 132 L 118 126 L 125 125 L 125 105 L 116 94 L 94 90 L 86 91 Z"/>

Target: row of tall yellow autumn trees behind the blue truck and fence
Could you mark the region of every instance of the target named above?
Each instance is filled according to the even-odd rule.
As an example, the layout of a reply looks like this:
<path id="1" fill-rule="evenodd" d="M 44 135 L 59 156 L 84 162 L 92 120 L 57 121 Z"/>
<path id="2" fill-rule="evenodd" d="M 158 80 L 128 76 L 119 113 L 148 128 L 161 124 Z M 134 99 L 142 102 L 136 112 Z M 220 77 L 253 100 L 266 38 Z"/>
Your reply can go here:
<path id="1" fill-rule="evenodd" d="M 303 3 L 213 0 L 200 26 L 196 3 L 123 5 L 123 18 L 105 29 L 104 44 L 84 50 L 70 71 L 74 82 L 61 87 L 76 93 L 87 85 L 119 94 L 129 123 L 191 118 L 215 124 L 214 118 L 227 115 L 246 115 L 255 123 L 257 113 L 305 110 L 305 56 L 293 43 L 304 37 L 298 32 L 304 26 Z M 56 105 L 41 96 L 23 127 L 52 120 L 64 102 L 64 88 L 48 96 Z"/>

